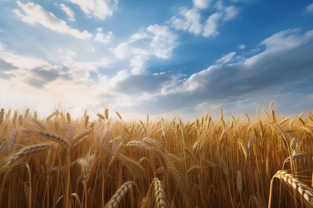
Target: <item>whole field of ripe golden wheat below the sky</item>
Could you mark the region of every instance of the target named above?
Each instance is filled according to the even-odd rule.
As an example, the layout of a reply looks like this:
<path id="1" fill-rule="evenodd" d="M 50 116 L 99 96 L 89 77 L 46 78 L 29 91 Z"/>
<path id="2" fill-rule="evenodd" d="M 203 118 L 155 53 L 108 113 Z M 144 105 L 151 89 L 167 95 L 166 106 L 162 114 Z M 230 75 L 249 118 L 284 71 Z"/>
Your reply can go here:
<path id="1" fill-rule="evenodd" d="M 195 121 L 0 110 L 1 208 L 313 207 L 313 114 Z M 250 115 L 250 117 L 252 117 Z"/>

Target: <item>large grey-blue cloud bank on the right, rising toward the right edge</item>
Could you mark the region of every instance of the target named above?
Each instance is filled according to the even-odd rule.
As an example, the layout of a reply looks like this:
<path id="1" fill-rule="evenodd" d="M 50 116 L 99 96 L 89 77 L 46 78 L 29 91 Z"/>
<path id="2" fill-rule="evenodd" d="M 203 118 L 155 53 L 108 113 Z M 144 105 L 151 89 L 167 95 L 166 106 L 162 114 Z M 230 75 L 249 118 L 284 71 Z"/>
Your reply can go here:
<path id="1" fill-rule="evenodd" d="M 289 42 L 287 46 L 286 42 Z M 203 108 L 216 101 L 227 104 L 230 109 L 245 102 L 245 108 L 241 109 L 245 112 L 251 103 L 255 107 L 266 100 L 268 105 L 273 96 L 307 99 L 310 94 L 297 89 L 311 86 L 313 79 L 313 30 L 304 33 L 298 29 L 280 31 L 260 44 L 265 50 L 258 54 L 238 61 L 233 59 L 235 52 L 230 52 L 220 59 L 221 64 L 208 66 L 185 79 L 161 73 L 131 75 L 125 72 L 116 82 L 114 92 L 126 96 L 123 99 L 129 97 L 129 102 L 136 95 L 136 102 L 126 109 L 133 111 L 140 107 L 151 114 L 177 109 L 194 112 L 197 106 Z M 139 80 L 143 80 L 144 85 L 141 86 Z M 158 107 L 154 110 L 148 106 Z"/>

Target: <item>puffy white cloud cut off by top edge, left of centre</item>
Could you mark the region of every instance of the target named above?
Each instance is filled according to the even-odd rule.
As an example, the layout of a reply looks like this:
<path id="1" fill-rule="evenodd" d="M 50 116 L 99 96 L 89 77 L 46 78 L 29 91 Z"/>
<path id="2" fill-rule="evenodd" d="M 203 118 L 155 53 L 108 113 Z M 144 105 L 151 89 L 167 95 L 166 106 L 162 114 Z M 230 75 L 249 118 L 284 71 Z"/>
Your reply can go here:
<path id="1" fill-rule="evenodd" d="M 113 11 L 117 9 L 117 0 L 68 0 L 79 5 L 80 9 L 86 16 L 94 16 L 98 19 L 105 19 L 111 16 Z"/>

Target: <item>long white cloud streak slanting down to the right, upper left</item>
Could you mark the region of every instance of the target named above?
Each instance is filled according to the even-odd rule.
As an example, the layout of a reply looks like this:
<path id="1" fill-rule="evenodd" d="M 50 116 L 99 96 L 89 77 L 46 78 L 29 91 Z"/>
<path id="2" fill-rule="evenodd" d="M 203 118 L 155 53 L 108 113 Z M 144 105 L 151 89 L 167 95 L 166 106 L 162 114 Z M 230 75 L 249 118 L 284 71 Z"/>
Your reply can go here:
<path id="1" fill-rule="evenodd" d="M 17 5 L 25 14 L 18 9 L 13 9 L 13 12 L 25 23 L 31 25 L 39 23 L 53 31 L 70 34 L 79 39 L 89 39 L 92 36 L 92 34 L 86 30 L 80 32 L 77 29 L 70 28 L 65 21 L 56 18 L 54 14 L 44 10 L 39 4 L 34 4 L 33 2 L 23 4 L 17 1 Z"/>

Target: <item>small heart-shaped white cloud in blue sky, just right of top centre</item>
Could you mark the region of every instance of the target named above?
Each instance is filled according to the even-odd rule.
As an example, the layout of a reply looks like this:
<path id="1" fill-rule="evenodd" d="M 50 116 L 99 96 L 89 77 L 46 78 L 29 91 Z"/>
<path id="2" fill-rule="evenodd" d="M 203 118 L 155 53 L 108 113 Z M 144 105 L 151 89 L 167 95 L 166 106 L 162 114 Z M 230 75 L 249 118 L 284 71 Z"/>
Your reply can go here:
<path id="1" fill-rule="evenodd" d="M 184 17 L 183 19 L 176 18 L 176 16 L 170 18 L 171 25 L 175 29 L 188 30 L 194 34 L 199 34 L 201 32 L 201 15 L 196 8 L 191 8 L 190 10 L 187 10 L 186 8 L 180 8 L 179 13 Z"/>

